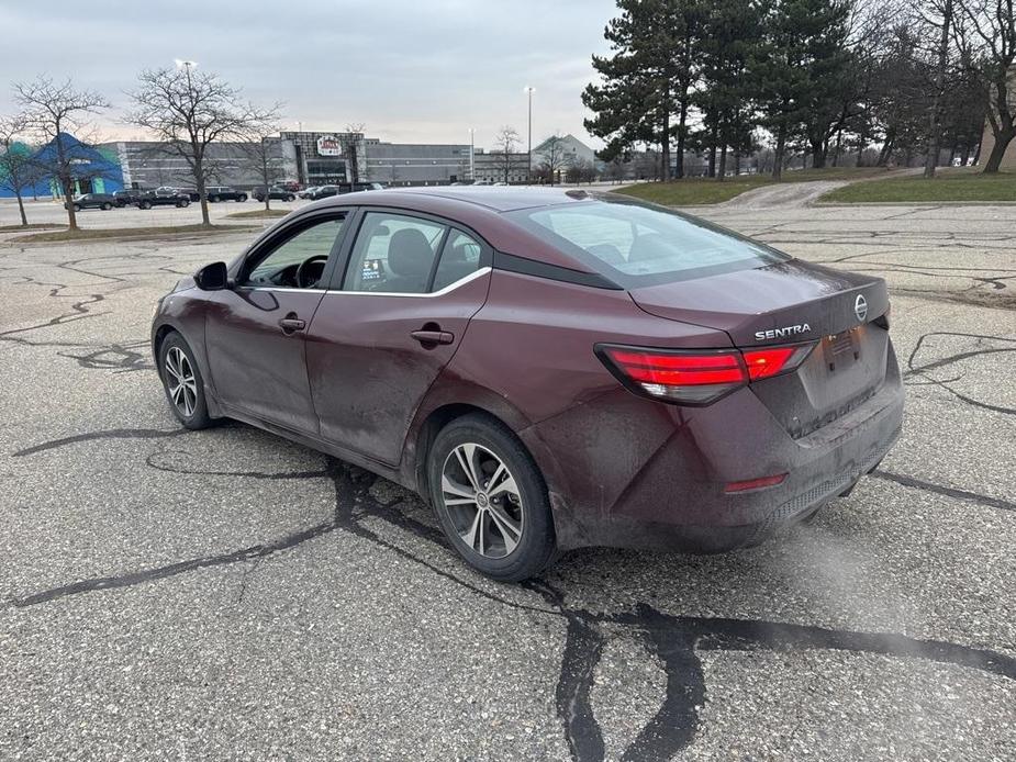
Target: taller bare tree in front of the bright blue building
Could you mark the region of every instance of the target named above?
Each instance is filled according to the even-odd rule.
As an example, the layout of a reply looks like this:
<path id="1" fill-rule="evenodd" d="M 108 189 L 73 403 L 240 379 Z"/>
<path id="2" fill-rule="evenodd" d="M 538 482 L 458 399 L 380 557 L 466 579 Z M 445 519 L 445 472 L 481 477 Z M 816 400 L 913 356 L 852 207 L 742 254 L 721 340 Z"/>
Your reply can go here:
<path id="1" fill-rule="evenodd" d="M 78 90 L 70 79 L 60 83 L 48 77 L 38 77 L 31 82 L 14 85 L 14 99 L 24 107 L 24 125 L 46 144 L 44 165 L 36 159 L 38 171 L 57 179 L 64 200 L 74 197 L 74 183 L 79 179 L 82 156 L 81 146 L 87 139 L 85 130 L 88 117 L 109 108 L 107 100 L 97 92 Z M 76 133 L 77 141 L 68 133 Z M 67 220 L 71 231 L 78 229 L 74 204 L 66 203 Z"/>

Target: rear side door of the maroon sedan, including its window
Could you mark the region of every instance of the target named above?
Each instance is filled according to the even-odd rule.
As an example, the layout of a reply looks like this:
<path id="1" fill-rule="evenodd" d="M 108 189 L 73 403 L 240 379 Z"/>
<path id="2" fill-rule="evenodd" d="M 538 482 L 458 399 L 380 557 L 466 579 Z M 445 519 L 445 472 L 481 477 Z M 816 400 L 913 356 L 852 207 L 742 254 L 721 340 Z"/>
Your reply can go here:
<path id="1" fill-rule="evenodd" d="M 367 210 L 308 334 L 321 435 L 397 464 L 410 423 L 483 306 L 491 253 L 412 212 Z"/>

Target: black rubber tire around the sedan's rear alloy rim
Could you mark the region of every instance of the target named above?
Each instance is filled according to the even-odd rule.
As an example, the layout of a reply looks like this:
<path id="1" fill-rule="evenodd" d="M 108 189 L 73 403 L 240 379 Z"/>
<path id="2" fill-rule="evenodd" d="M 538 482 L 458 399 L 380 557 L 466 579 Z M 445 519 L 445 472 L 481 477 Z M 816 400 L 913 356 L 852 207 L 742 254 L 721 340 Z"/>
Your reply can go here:
<path id="1" fill-rule="evenodd" d="M 456 457 L 454 451 L 457 447 L 470 444 L 478 445 L 480 451 L 485 451 L 482 455 L 483 458 L 490 458 L 480 463 L 481 471 L 483 467 L 492 468 L 500 460 L 506 468 L 507 475 L 514 478 L 517 486 L 520 500 L 516 503 L 507 502 L 506 493 L 502 492 L 499 497 L 492 495 L 487 498 L 484 492 L 483 503 L 492 507 L 482 509 L 477 507 L 472 514 L 474 516 L 481 511 L 493 511 L 494 504 L 500 503 L 500 509 L 507 508 L 512 513 L 512 518 L 515 515 L 520 517 L 517 523 L 521 525 L 521 535 L 517 537 L 517 544 L 510 552 L 500 557 L 482 554 L 460 536 L 461 529 L 457 528 L 456 523 L 458 522 L 460 527 L 469 524 L 469 511 L 472 511 L 470 506 L 449 508 L 445 504 L 442 475 L 446 461 L 453 463 L 450 468 L 457 468 L 455 461 L 449 459 Z M 480 479 L 483 475 L 492 474 L 483 472 Z M 461 479 L 455 481 L 462 482 Z M 556 540 L 547 485 L 526 448 L 501 422 L 482 414 L 470 414 L 456 418 L 445 426 L 434 439 L 434 445 L 427 453 L 427 483 L 431 504 L 434 506 L 442 529 L 456 551 L 477 571 L 500 582 L 520 582 L 536 576 L 550 564 Z M 487 483 L 484 482 L 482 486 L 485 490 Z M 457 512 L 456 516 L 453 516 L 453 511 Z M 484 527 L 483 520 L 481 517 L 479 524 L 481 531 Z M 503 541 L 505 533 L 498 529 L 498 523 L 493 520 L 493 517 L 485 520 L 487 526 L 495 530 L 494 535 L 488 534 L 488 536 L 494 541 L 500 536 L 502 538 L 500 550 L 506 550 L 507 544 Z M 493 550 L 496 552 L 499 549 Z"/>

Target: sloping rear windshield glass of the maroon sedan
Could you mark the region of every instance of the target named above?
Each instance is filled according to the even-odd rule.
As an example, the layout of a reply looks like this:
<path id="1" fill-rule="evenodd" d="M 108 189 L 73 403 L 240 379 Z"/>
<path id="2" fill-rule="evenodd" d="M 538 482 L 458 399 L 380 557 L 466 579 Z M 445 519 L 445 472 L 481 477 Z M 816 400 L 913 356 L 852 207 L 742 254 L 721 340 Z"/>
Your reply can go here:
<path id="1" fill-rule="evenodd" d="M 506 216 L 625 288 L 791 259 L 703 220 L 613 193 Z"/>

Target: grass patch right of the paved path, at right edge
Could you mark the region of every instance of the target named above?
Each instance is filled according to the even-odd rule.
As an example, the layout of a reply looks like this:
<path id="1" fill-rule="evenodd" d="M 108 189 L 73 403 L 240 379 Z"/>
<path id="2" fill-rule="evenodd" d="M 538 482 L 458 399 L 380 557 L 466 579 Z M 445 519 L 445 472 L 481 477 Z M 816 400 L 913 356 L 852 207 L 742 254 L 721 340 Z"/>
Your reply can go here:
<path id="1" fill-rule="evenodd" d="M 886 203 L 936 201 L 1016 201 L 1016 175 L 982 175 L 973 167 L 939 170 L 926 180 L 920 176 L 872 180 L 838 188 L 822 197 L 830 203 Z"/>

